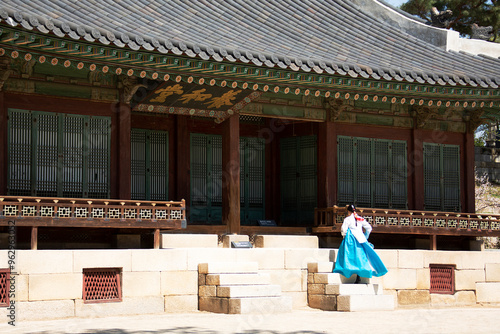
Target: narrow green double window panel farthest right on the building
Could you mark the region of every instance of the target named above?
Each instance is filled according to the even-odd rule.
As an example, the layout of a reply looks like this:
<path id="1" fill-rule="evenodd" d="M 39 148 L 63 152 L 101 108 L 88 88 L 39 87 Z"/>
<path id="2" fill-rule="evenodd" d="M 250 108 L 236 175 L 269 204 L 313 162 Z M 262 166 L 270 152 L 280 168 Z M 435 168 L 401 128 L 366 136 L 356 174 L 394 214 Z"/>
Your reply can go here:
<path id="1" fill-rule="evenodd" d="M 459 212 L 460 146 L 424 143 L 426 210 Z"/>

